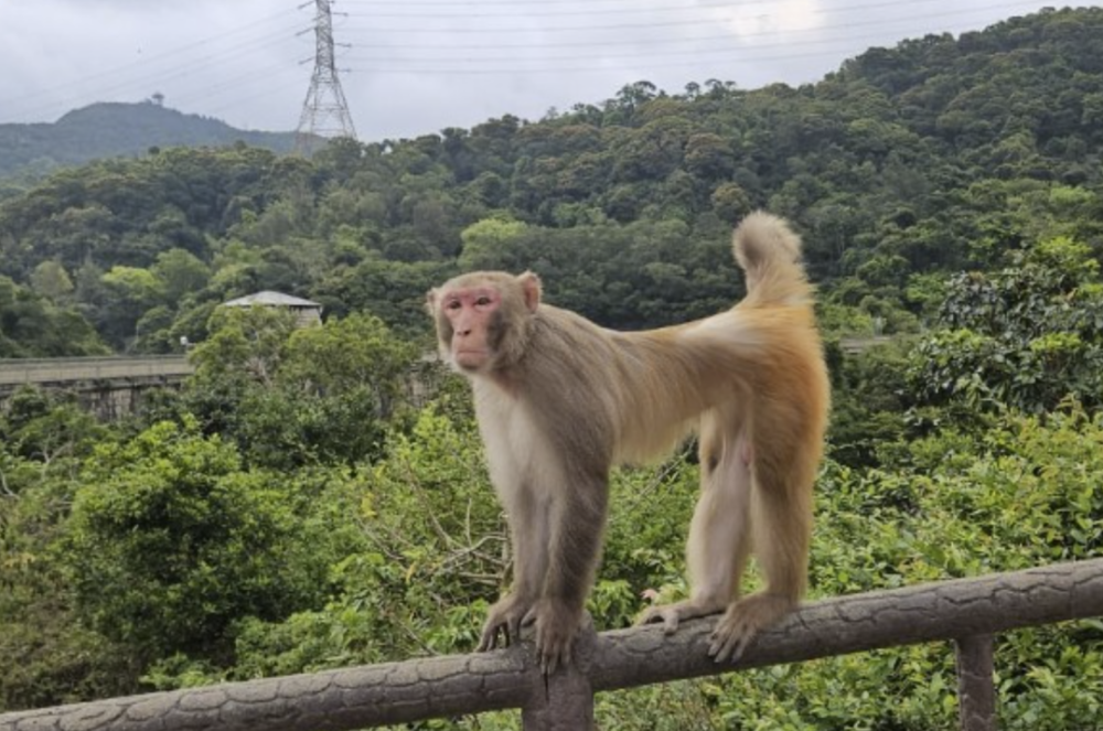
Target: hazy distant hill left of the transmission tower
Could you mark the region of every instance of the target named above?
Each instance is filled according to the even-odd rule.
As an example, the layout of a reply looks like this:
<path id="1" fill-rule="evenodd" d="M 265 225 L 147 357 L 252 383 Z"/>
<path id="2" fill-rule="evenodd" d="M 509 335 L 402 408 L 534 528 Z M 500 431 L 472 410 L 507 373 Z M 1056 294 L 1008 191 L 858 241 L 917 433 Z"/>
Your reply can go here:
<path id="1" fill-rule="evenodd" d="M 152 147 L 221 147 L 237 141 L 287 152 L 295 135 L 239 130 L 152 103 L 94 104 L 53 123 L 0 125 L 0 180 L 99 158 L 142 154 Z"/>

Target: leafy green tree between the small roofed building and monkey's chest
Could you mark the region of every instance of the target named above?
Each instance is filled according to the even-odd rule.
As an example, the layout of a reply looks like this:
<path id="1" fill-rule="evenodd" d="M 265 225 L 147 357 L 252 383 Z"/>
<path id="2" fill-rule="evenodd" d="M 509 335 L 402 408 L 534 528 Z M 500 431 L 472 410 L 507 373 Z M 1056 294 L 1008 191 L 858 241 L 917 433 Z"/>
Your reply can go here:
<path id="1" fill-rule="evenodd" d="M 272 308 L 224 308 L 212 320 L 184 402 L 249 464 L 290 470 L 379 453 L 416 383 L 411 344 L 363 314 L 298 330 Z"/>

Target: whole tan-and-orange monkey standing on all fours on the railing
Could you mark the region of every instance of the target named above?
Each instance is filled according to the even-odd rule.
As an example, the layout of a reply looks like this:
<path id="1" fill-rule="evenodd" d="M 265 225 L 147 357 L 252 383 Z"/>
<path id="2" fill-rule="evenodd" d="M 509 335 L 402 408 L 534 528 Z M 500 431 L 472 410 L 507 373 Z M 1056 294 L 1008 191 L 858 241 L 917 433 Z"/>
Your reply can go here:
<path id="1" fill-rule="evenodd" d="M 699 436 L 702 493 L 688 600 L 645 612 L 667 634 L 724 612 L 717 662 L 800 601 L 812 484 L 829 401 L 800 239 L 765 213 L 733 236 L 747 297 L 704 320 L 622 333 L 540 302 L 536 275 L 474 272 L 429 292 L 442 357 L 473 387 L 491 480 L 508 517 L 513 587 L 479 649 L 534 625 L 545 673 L 570 660 L 593 582 L 612 465 Z M 765 588 L 740 598 L 754 552 Z"/>

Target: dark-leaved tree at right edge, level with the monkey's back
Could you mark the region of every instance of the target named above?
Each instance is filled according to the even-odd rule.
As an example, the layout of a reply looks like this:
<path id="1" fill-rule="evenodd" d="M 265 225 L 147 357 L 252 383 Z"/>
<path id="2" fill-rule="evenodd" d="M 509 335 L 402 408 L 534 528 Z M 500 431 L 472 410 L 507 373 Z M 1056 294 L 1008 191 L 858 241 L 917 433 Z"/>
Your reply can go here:
<path id="1" fill-rule="evenodd" d="M 910 379 L 924 399 L 968 409 L 1089 406 L 1103 395 L 1103 284 L 1086 246 L 1038 244 L 1014 268 L 950 282 L 944 329 L 915 350 Z"/>

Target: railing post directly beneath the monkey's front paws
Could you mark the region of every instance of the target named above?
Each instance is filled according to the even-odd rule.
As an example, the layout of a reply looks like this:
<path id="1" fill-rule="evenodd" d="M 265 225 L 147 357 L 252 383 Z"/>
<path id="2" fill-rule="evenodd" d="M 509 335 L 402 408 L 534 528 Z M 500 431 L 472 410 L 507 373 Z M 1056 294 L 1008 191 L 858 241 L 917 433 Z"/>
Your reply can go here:
<path id="1" fill-rule="evenodd" d="M 575 641 L 574 656 L 566 667 L 550 676 L 533 670 L 535 682 L 531 701 L 521 709 L 524 731 L 593 731 L 593 686 L 590 665 L 598 635 L 589 614 Z"/>

